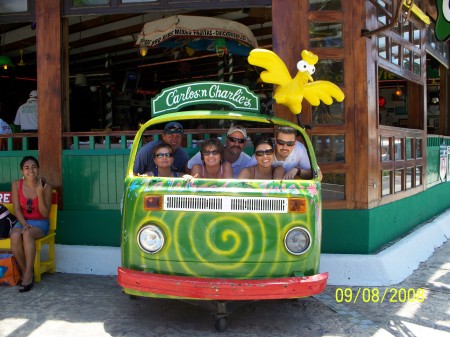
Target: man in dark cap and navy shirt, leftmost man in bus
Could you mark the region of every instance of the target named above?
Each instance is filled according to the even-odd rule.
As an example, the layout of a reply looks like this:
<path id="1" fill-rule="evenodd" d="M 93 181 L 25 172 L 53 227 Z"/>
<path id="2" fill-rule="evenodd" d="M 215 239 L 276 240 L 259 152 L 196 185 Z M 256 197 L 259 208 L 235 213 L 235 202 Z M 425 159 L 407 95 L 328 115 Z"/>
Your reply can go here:
<path id="1" fill-rule="evenodd" d="M 135 175 L 148 174 L 156 171 L 156 164 L 153 160 L 153 149 L 155 146 L 167 143 L 173 150 L 173 165 L 172 168 L 176 172 L 184 172 L 186 164 L 189 160 L 189 155 L 180 146 L 182 134 L 184 133 L 183 126 L 178 122 L 170 122 L 164 127 L 162 140 L 155 140 L 145 144 L 136 155 L 134 161 L 133 173 Z"/>

